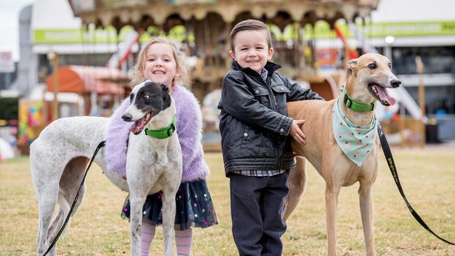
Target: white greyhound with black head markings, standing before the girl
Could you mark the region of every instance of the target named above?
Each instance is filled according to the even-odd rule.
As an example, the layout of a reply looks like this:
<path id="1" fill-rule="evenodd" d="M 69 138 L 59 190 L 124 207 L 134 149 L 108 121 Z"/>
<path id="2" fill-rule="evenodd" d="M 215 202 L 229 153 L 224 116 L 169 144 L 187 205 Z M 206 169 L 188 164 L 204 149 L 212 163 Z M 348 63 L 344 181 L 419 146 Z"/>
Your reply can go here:
<path id="1" fill-rule="evenodd" d="M 131 106 L 122 118 L 134 122 L 127 150 L 127 179 L 107 168 L 106 155 L 100 150 L 94 158 L 104 174 L 121 190 L 130 192 L 131 255 L 141 254 L 142 207 L 148 194 L 163 191 L 162 224 L 165 255 L 172 255 L 174 241 L 175 195 L 181 183 L 182 155 L 176 133 L 154 138 L 143 131 L 168 127 L 176 108 L 166 85 L 146 80 L 130 94 Z M 62 227 L 73 203 L 85 168 L 100 141 L 104 141 L 109 118 L 73 117 L 52 122 L 30 145 L 31 178 L 39 204 L 36 253 L 43 255 Z M 71 217 L 82 204 L 85 184 Z M 59 209 L 52 220 L 55 204 Z M 69 228 L 66 225 L 65 232 Z M 55 246 L 50 255 L 56 255 Z"/>

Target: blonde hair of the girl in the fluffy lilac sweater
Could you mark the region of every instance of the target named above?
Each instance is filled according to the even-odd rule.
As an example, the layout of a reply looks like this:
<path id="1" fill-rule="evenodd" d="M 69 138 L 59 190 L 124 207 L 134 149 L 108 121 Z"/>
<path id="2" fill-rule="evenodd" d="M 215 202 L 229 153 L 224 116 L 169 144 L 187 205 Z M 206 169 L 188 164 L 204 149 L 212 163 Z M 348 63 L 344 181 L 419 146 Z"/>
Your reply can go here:
<path id="1" fill-rule="evenodd" d="M 150 41 L 141 49 L 139 55 L 137 56 L 136 64 L 134 64 L 132 70 L 130 71 L 130 83 L 132 86 L 137 85 L 141 82 L 144 82 L 146 79 L 144 77 L 144 67 L 146 64 L 146 55 L 148 52 L 148 48 L 151 47 L 154 43 L 165 43 L 172 48 L 172 52 L 174 53 L 174 59 L 177 64 L 177 72 L 179 72 L 179 76 L 175 77 L 172 80 L 172 86 L 179 84 L 186 86 L 188 83 L 188 71 L 185 66 L 185 56 L 184 53 L 179 50 L 175 43 L 167 40 L 166 38 L 162 38 L 160 36 L 153 36 Z"/>

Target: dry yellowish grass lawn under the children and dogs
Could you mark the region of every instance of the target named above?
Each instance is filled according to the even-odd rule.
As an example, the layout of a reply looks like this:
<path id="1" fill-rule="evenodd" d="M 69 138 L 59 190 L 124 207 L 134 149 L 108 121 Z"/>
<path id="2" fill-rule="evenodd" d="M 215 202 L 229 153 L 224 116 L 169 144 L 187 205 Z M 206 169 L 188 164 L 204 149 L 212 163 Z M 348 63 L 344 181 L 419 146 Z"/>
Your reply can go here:
<path id="1" fill-rule="evenodd" d="M 393 148 L 407 199 L 428 226 L 455 241 L 455 148 Z M 219 225 L 195 229 L 193 255 L 237 255 L 231 236 L 229 180 L 221 154 L 206 155 L 208 178 Z M 374 226 L 377 255 L 455 255 L 455 246 L 426 232 L 409 213 L 381 154 L 374 184 Z M 323 179 L 309 170 L 307 192 L 288 220 L 283 255 L 325 255 Z M 364 255 L 357 196 L 358 185 L 344 187 L 337 208 L 337 255 Z M 120 218 L 126 197 L 92 166 L 84 203 L 68 234 L 57 242 L 59 255 L 129 255 L 130 223 Z M 38 229 L 38 201 L 27 157 L 0 163 L 0 255 L 34 255 Z M 151 255 L 162 255 L 162 229 Z"/>

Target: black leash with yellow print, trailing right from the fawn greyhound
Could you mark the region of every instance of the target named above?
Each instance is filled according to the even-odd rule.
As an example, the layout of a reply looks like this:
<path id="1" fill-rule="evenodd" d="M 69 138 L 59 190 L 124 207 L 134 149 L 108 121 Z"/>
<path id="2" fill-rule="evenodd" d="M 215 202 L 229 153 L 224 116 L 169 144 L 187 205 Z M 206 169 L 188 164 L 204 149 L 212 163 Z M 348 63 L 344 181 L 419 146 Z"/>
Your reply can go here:
<path id="1" fill-rule="evenodd" d="M 392 176 L 395 180 L 395 183 L 398 187 L 398 191 L 400 191 L 401 197 L 405 200 L 407 208 L 409 208 L 409 211 L 411 211 L 412 216 L 414 216 L 414 218 L 417 220 L 417 222 L 420 223 L 420 225 L 422 227 L 424 227 L 428 232 L 430 232 L 431 234 L 436 236 L 438 239 L 440 239 L 441 241 L 444 241 L 445 243 L 449 243 L 452 246 L 455 246 L 455 243 L 452 243 L 451 241 L 447 241 L 447 240 L 443 239 L 442 237 L 438 236 L 437 234 L 435 234 L 435 232 L 433 232 L 433 230 L 431 230 L 430 227 L 428 227 L 428 225 L 426 225 L 426 223 L 422 220 L 422 218 L 420 218 L 419 214 L 417 214 L 416 211 L 414 211 L 414 208 L 412 208 L 412 206 L 409 204 L 409 202 L 407 201 L 407 199 L 405 197 L 405 192 L 403 192 L 403 190 L 402 190 L 402 187 L 400 184 L 400 178 L 398 178 L 398 172 L 395 167 L 395 162 L 393 162 L 392 152 L 391 152 L 390 148 L 388 147 L 388 142 L 387 142 L 386 136 L 384 134 L 384 131 L 382 131 L 382 127 L 381 127 L 381 124 L 379 124 L 379 122 L 377 124 L 377 131 L 379 134 L 379 139 L 381 140 L 381 146 L 382 146 L 382 150 L 384 151 L 384 156 L 386 157 L 388 169 L 390 169 Z"/>

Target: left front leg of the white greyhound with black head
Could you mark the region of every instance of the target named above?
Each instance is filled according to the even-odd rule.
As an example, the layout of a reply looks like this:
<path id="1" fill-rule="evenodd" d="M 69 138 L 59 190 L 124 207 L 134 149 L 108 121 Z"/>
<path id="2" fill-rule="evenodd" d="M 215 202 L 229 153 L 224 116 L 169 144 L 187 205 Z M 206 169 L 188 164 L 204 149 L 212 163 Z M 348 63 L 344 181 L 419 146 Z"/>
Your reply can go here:
<path id="1" fill-rule="evenodd" d="M 131 255 L 141 255 L 141 224 L 142 208 L 147 193 L 141 190 L 130 189 L 130 221 L 131 221 Z"/>

